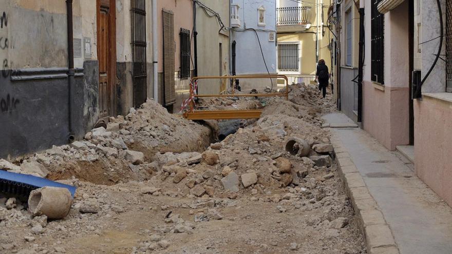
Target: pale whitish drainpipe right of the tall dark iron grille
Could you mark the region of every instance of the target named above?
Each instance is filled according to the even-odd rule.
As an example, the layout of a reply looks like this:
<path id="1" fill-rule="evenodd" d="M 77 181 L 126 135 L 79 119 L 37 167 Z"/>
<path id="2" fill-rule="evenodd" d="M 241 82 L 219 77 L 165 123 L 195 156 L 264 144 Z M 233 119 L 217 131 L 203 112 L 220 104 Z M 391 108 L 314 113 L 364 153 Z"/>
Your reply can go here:
<path id="1" fill-rule="evenodd" d="M 152 70 L 153 70 L 153 93 L 154 101 L 159 103 L 159 47 L 158 47 L 158 31 L 157 31 L 157 0 L 152 0 Z"/>

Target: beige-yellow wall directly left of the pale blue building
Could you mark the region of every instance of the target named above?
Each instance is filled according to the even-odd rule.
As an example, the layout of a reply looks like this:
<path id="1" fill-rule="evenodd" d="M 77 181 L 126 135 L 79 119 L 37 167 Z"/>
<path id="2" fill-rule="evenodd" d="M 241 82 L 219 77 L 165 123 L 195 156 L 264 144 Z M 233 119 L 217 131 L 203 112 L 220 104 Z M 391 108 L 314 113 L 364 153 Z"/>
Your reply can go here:
<path id="1" fill-rule="evenodd" d="M 200 2 L 219 13 L 224 26 L 229 27 L 229 1 L 203 0 Z M 199 6 L 197 7 L 196 13 L 196 29 L 198 31 L 198 76 L 228 75 L 229 32 L 218 32 L 220 25 L 217 18 L 206 15 Z M 200 80 L 198 82 L 198 93 L 219 93 L 220 85 L 221 80 Z M 227 86 L 229 86 L 229 84 L 227 84 Z"/>

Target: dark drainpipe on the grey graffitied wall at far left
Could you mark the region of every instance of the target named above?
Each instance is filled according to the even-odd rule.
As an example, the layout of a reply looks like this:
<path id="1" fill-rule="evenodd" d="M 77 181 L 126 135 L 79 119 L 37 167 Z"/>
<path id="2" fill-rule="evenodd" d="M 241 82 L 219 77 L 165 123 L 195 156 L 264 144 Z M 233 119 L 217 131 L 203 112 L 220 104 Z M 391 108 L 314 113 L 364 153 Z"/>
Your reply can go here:
<path id="1" fill-rule="evenodd" d="M 73 142 L 74 132 L 72 126 L 72 89 L 74 87 L 74 41 L 73 41 L 73 20 L 72 20 L 72 0 L 66 0 L 66 9 L 67 9 L 67 57 L 68 57 L 68 123 L 69 123 L 69 136 L 68 141 Z"/>

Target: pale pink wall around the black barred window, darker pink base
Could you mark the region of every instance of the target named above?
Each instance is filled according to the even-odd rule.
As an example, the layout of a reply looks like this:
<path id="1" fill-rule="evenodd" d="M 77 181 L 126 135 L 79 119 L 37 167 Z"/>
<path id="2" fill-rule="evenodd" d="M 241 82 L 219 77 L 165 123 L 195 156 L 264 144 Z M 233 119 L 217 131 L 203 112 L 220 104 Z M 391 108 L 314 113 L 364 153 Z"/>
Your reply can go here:
<path id="1" fill-rule="evenodd" d="M 366 31 L 370 31 L 371 1 L 366 1 Z M 370 32 L 366 33 L 363 87 L 364 129 L 389 150 L 409 143 L 408 3 L 385 14 L 384 86 L 371 81 Z"/>

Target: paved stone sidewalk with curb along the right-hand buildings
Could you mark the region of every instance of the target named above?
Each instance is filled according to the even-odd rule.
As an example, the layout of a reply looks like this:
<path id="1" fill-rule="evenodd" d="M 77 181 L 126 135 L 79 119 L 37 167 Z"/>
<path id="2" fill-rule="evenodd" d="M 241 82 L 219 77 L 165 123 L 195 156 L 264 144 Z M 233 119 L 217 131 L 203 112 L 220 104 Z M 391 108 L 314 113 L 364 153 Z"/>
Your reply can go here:
<path id="1" fill-rule="evenodd" d="M 327 114 L 331 126 L 351 120 Z M 360 128 L 331 128 L 331 142 L 369 253 L 452 253 L 452 208 L 412 164 Z"/>

